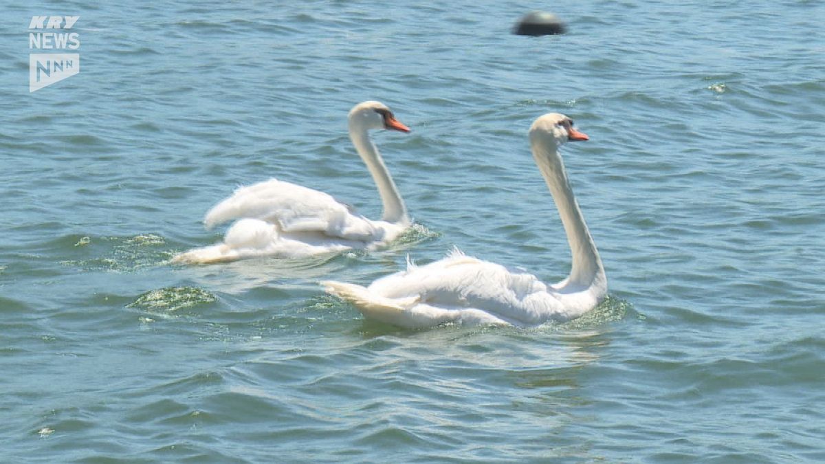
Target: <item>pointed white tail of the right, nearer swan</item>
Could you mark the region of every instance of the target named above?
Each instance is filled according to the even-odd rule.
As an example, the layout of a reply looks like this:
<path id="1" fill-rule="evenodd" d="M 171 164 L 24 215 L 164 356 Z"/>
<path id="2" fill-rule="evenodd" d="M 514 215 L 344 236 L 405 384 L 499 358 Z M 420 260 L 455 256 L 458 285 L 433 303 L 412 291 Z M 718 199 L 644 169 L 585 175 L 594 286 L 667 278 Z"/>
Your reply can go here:
<path id="1" fill-rule="evenodd" d="M 380 320 L 388 324 L 398 324 L 408 314 L 409 308 L 421 301 L 420 296 L 407 298 L 387 298 L 375 295 L 365 286 L 352 283 L 325 281 L 321 282 L 328 294 L 347 301 L 361 311 L 367 319 Z"/>

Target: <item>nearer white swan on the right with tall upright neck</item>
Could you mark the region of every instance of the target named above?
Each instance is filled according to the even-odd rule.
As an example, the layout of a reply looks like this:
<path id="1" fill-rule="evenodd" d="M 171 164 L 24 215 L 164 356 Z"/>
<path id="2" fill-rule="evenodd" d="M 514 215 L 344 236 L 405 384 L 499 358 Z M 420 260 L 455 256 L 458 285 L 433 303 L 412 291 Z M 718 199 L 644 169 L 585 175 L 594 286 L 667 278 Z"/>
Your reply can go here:
<path id="1" fill-rule="evenodd" d="M 321 282 L 326 291 L 354 305 L 367 319 L 404 328 L 437 324 L 535 326 L 575 319 L 607 294 L 607 278 L 582 211 L 573 196 L 559 147 L 588 140 L 559 113 L 540 116 L 530 126 L 533 158 L 559 210 L 573 255 L 570 274 L 547 285 L 528 273 L 464 255 L 458 249 L 434 263 L 381 277 L 370 286 Z"/>

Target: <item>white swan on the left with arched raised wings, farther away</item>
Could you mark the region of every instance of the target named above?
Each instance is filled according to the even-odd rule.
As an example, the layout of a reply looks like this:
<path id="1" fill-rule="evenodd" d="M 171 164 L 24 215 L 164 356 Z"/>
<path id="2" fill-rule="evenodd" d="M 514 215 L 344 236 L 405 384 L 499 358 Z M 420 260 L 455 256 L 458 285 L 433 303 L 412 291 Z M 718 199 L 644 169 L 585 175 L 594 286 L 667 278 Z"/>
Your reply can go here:
<path id="1" fill-rule="evenodd" d="M 372 249 L 398 237 L 410 226 L 407 208 L 368 131 L 410 130 L 381 102 L 361 102 L 347 118 L 350 140 L 384 203 L 381 220 L 369 220 L 324 192 L 271 178 L 238 188 L 206 213 L 207 230 L 237 220 L 223 243 L 179 253 L 172 263 L 219 263 L 253 256 L 302 258 Z"/>

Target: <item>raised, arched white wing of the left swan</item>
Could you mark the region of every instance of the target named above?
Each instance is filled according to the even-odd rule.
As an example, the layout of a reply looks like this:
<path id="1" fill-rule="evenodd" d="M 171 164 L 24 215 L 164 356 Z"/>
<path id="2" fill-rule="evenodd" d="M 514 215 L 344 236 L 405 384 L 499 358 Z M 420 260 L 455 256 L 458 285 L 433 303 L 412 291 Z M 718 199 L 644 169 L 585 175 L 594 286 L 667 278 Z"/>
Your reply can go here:
<path id="1" fill-rule="evenodd" d="M 319 232 L 342 239 L 371 240 L 380 234 L 370 220 L 332 196 L 277 179 L 239 187 L 206 213 L 204 225 L 211 229 L 242 218 L 266 220 L 284 232 Z"/>

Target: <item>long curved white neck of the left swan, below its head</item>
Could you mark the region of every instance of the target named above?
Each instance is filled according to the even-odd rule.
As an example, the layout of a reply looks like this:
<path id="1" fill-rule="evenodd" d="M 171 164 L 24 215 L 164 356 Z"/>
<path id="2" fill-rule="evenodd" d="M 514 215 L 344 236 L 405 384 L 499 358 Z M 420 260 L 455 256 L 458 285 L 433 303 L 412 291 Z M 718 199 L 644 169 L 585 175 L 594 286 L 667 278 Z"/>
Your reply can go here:
<path id="1" fill-rule="evenodd" d="M 401 195 L 398 193 L 398 187 L 395 187 L 395 182 L 389 175 L 384 159 L 381 158 L 378 148 L 370 140 L 366 129 L 351 123 L 350 139 L 352 144 L 356 146 L 356 150 L 361 155 L 361 159 L 364 160 L 366 167 L 370 169 L 370 174 L 372 174 L 375 185 L 378 187 L 381 202 L 384 204 L 384 215 L 381 219 L 392 223 L 409 222 L 407 207 L 404 206 Z"/>

